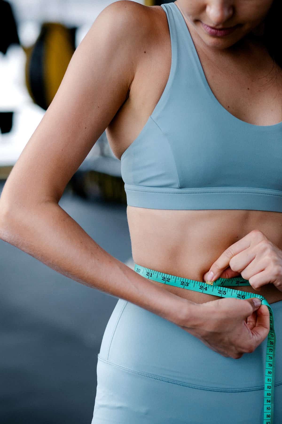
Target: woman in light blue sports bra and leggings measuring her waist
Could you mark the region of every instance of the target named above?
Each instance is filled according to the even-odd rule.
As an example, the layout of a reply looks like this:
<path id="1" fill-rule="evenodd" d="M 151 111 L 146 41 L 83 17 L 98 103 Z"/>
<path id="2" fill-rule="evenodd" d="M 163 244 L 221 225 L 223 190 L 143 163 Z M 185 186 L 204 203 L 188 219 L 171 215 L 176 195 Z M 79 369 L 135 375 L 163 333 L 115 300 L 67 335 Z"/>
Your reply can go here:
<path id="1" fill-rule="evenodd" d="M 119 298 L 98 356 L 93 424 L 281 421 L 282 70 L 269 32 L 280 7 L 107 6 L 6 181 L 1 238 Z M 144 278 L 58 206 L 105 128 L 121 160 L 134 262 L 196 282 L 208 271 L 214 281 L 240 275 L 252 297 Z M 270 314 L 257 296 L 278 330 L 271 418 Z"/>

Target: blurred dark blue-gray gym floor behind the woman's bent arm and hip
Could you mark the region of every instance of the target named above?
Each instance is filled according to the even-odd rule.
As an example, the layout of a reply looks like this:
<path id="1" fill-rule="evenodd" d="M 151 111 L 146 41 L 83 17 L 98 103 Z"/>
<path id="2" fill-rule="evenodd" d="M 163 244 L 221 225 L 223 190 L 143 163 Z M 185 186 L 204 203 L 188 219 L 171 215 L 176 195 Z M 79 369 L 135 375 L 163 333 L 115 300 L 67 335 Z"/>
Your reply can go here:
<path id="1" fill-rule="evenodd" d="M 126 206 L 89 203 L 69 192 L 60 206 L 112 256 L 130 260 Z M 118 298 L 3 240 L 0 285 L 0 422 L 90 424 L 97 354 Z"/>

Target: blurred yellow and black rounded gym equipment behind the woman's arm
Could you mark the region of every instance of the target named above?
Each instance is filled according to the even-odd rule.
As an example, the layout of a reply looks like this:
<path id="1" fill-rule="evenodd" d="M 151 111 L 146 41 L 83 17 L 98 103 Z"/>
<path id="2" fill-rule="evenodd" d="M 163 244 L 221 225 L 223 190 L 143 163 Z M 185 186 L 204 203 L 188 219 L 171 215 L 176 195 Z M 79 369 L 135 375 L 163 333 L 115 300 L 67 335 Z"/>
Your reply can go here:
<path id="1" fill-rule="evenodd" d="M 57 22 L 44 22 L 33 47 L 25 49 L 27 90 L 34 103 L 45 110 L 52 102 L 74 54 L 73 30 Z"/>

